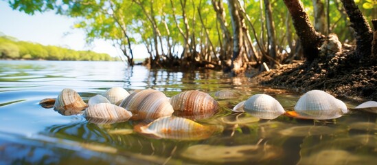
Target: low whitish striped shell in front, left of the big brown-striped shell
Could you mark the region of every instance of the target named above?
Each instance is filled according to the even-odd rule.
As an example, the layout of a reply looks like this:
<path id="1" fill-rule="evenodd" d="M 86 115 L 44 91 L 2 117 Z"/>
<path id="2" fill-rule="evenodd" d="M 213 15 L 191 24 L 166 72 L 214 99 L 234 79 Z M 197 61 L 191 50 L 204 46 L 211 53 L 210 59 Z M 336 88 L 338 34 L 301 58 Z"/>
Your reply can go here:
<path id="1" fill-rule="evenodd" d="M 124 122 L 133 116 L 130 111 L 110 103 L 89 105 L 84 115 L 89 122 L 97 124 Z"/>

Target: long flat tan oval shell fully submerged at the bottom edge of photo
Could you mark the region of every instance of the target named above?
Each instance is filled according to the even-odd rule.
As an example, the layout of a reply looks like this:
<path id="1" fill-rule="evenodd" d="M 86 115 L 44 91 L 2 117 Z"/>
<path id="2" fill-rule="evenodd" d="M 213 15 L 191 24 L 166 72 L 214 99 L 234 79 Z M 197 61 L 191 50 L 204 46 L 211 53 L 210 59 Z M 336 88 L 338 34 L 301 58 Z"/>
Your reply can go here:
<path id="1" fill-rule="evenodd" d="M 230 164 L 235 162 L 261 162 L 282 155 L 282 148 L 268 144 L 242 146 L 211 146 L 198 144 L 189 146 L 182 157 L 201 162 Z"/>

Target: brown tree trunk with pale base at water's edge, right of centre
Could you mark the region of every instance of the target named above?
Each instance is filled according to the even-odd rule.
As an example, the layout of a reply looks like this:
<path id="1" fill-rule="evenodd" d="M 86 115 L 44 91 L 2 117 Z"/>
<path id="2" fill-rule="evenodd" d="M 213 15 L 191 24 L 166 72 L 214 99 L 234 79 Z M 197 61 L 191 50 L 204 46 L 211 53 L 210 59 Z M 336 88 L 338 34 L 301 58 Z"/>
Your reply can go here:
<path id="1" fill-rule="evenodd" d="M 228 0 L 229 13 L 231 16 L 231 26 L 233 28 L 233 56 L 231 57 L 231 74 L 238 75 L 242 71 L 242 23 L 236 0 Z"/>

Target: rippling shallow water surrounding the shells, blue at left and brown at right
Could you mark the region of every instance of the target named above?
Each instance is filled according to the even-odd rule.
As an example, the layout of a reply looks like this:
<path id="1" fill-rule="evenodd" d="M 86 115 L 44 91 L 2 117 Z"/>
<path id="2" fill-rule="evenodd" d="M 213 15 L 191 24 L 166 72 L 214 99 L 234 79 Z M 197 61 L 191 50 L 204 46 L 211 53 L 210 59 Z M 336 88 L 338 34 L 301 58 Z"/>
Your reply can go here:
<path id="1" fill-rule="evenodd" d="M 231 113 L 253 94 L 269 94 L 286 110 L 301 93 L 260 87 L 222 72 L 128 69 L 122 62 L 0 61 L 0 164 L 374 164 L 376 115 L 359 111 L 336 120 L 279 116 L 259 120 Z M 71 88 L 87 101 L 111 87 L 157 89 L 171 97 L 197 89 L 212 96 L 235 89 L 238 98 L 218 100 L 216 115 L 196 120 L 224 130 L 202 140 L 154 139 L 133 132 L 137 122 L 93 124 L 38 104 Z M 348 107 L 356 102 L 343 100 Z M 236 120 L 236 118 L 238 120 Z"/>

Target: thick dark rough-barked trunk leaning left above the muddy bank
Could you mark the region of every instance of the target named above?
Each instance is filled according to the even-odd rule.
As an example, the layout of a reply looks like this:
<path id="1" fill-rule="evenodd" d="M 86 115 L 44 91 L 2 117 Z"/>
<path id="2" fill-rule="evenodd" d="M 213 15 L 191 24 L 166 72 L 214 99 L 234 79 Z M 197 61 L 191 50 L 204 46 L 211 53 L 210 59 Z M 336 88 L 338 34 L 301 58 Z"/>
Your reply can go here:
<path id="1" fill-rule="evenodd" d="M 301 1 L 284 0 L 284 3 L 290 12 L 296 34 L 301 41 L 304 57 L 308 61 L 313 61 L 319 55 L 319 47 L 323 43 L 324 36 L 318 34 L 313 28 Z"/>

